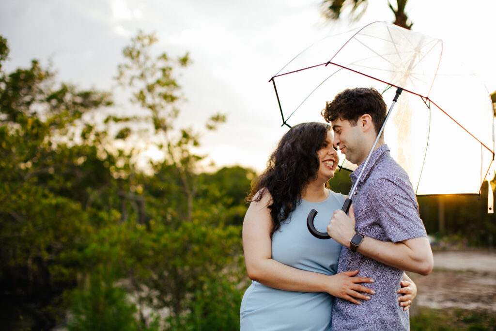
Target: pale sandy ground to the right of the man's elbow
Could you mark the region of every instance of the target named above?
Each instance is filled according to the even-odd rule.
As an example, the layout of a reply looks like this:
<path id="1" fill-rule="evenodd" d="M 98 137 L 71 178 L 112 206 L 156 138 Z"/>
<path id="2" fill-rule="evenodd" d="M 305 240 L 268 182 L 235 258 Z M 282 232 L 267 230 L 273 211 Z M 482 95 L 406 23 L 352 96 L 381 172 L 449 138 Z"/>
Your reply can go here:
<path id="1" fill-rule="evenodd" d="M 496 252 L 434 252 L 428 276 L 409 273 L 419 306 L 481 309 L 496 313 Z"/>

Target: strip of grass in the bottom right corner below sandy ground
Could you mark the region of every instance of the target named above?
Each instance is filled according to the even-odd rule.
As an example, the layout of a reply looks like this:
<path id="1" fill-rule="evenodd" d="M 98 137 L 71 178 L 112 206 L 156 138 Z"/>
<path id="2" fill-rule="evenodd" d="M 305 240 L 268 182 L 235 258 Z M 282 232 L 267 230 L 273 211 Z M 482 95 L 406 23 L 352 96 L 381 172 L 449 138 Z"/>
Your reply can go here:
<path id="1" fill-rule="evenodd" d="M 489 311 L 420 307 L 419 315 L 410 317 L 410 329 L 495 331 L 496 314 Z"/>

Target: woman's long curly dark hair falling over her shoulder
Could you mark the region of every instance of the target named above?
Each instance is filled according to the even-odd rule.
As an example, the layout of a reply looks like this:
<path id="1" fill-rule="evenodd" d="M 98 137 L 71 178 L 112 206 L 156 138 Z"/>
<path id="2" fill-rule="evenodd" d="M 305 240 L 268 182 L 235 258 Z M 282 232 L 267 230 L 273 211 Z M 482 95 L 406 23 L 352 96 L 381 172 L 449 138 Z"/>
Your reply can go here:
<path id="1" fill-rule="evenodd" d="M 317 151 L 323 147 L 330 129 L 329 125 L 318 122 L 291 128 L 270 155 L 267 169 L 251 183 L 248 201 L 260 201 L 267 192 L 272 196 L 272 204 L 268 205 L 272 216 L 271 237 L 295 210 L 303 189 L 316 178 L 320 166 Z"/>

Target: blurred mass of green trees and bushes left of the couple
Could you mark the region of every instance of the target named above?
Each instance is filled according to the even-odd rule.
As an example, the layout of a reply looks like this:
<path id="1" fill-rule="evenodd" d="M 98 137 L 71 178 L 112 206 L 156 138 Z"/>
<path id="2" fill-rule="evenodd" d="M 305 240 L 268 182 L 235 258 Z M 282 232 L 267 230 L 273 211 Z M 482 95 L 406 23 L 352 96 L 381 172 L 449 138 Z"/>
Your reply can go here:
<path id="1" fill-rule="evenodd" d="M 95 330 L 98 320 L 111 323 L 106 330 L 122 330 L 121 322 L 144 330 L 147 307 L 169 310 L 162 328 L 201 317 L 236 329 L 245 190 L 222 185 L 231 173 L 245 185 L 253 172 L 198 174 L 201 132 L 175 125 L 182 98 L 175 72 L 189 60 L 152 57 L 155 42 L 140 32 L 124 49 L 119 79 L 139 107 L 127 117 L 112 114 L 110 93 L 58 83 L 36 60 L 0 71 L 0 311 L 7 328 L 50 329 L 72 306 L 71 330 Z M 0 38 L 0 65 L 7 58 Z M 96 112 L 109 115 L 95 122 Z M 225 120 L 215 114 L 205 130 Z M 150 129 L 137 129 L 143 124 Z M 122 147 L 136 136 L 163 153 L 150 163 L 152 173 L 138 167 L 138 148 Z"/>

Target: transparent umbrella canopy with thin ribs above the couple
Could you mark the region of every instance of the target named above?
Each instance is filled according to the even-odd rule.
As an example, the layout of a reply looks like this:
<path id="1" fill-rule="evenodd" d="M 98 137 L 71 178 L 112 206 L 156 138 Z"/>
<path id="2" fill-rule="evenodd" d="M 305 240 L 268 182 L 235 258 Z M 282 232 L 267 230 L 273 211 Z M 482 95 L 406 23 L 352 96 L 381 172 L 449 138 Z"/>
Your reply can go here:
<path id="1" fill-rule="evenodd" d="M 323 121 L 326 101 L 345 88 L 374 87 L 386 104 L 402 88 L 384 138 L 415 193 L 479 194 L 495 155 L 493 104 L 455 58 L 440 39 L 373 22 L 316 42 L 270 81 L 289 127 Z M 339 166 L 357 167 L 344 155 Z"/>

